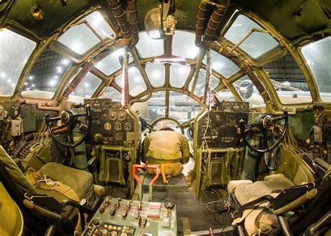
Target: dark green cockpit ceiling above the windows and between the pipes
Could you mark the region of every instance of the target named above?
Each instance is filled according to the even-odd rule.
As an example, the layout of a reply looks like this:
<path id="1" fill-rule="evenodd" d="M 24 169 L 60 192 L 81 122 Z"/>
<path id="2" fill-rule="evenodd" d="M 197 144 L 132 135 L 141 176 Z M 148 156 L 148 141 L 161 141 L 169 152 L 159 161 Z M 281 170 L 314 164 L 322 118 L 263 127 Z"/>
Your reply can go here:
<path id="1" fill-rule="evenodd" d="M 147 11 L 159 6 L 160 1 L 137 0 L 136 2 L 139 9 L 139 29 L 143 30 Z M 199 3 L 200 0 L 175 1 L 177 29 L 195 29 Z M 91 6 L 105 4 L 107 4 L 106 1 L 96 0 L 40 2 L 6 0 L 0 4 L 0 27 L 6 23 L 32 31 L 38 37 L 47 38 L 54 34 L 58 27 L 66 24 L 84 10 L 88 10 Z M 243 8 L 263 17 L 292 43 L 299 43 L 300 39 L 310 38 L 313 32 L 322 35 L 330 34 L 331 31 L 331 6 L 326 0 L 233 0 L 230 2 L 231 7 Z M 31 17 L 31 13 L 34 17 Z"/>

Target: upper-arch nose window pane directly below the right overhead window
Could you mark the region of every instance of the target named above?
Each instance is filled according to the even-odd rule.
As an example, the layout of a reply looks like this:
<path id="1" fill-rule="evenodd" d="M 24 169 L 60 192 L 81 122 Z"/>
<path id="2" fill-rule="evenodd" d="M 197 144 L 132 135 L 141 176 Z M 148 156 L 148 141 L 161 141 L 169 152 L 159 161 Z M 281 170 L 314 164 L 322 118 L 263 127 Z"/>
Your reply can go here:
<path id="1" fill-rule="evenodd" d="M 240 71 L 232 61 L 218 54 L 217 52 L 211 51 L 212 53 L 212 69 L 223 75 L 225 78 L 229 78 L 231 75 Z M 203 59 L 203 63 L 207 63 L 207 58 Z"/>

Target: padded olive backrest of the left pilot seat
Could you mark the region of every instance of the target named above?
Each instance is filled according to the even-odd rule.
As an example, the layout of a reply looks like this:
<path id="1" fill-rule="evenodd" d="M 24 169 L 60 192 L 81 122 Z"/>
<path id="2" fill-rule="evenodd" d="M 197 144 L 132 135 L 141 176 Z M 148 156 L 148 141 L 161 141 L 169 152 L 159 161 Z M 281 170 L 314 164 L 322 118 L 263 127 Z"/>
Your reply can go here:
<path id="1" fill-rule="evenodd" d="M 23 193 L 36 193 L 34 187 L 28 182 L 27 178 L 24 176 L 20 168 L 16 165 L 5 149 L 0 146 L 0 161 L 6 168 L 6 171 L 13 179 L 17 188 L 19 188 Z M 8 183 L 9 184 L 9 183 Z"/>

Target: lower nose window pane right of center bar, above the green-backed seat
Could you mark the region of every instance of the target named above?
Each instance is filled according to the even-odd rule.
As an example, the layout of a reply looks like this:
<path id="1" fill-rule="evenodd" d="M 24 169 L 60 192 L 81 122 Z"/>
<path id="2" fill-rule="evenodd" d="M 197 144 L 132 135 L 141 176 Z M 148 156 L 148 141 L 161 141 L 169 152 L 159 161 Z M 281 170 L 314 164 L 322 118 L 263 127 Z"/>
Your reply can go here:
<path id="1" fill-rule="evenodd" d="M 201 110 L 200 104 L 193 98 L 170 91 L 169 94 L 169 117 L 178 119 L 179 122 L 195 117 Z"/>

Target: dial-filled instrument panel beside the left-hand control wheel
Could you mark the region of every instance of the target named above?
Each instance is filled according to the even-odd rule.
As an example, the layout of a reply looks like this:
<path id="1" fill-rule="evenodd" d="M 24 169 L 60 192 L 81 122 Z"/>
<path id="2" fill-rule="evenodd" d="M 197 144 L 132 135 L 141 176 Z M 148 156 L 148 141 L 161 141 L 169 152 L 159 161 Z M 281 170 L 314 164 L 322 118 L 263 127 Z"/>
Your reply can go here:
<path id="1" fill-rule="evenodd" d="M 118 101 L 110 98 L 85 99 L 91 105 L 91 132 L 89 142 L 102 145 L 124 145 L 124 141 L 135 140 L 135 117 L 130 110 L 122 108 Z M 139 131 L 139 128 L 138 128 Z"/>

